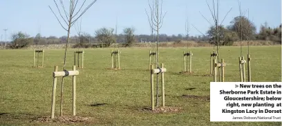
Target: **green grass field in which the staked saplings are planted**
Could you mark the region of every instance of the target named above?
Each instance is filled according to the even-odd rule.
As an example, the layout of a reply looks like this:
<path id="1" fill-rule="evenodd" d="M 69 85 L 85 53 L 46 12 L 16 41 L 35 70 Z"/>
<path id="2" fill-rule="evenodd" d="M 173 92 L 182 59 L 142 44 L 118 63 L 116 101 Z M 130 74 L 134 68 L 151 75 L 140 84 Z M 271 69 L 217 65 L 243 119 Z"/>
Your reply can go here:
<path id="1" fill-rule="evenodd" d="M 77 116 L 91 121 L 71 125 L 281 125 L 281 123 L 211 123 L 209 121 L 209 55 L 212 48 L 190 48 L 194 53 L 194 74 L 182 72 L 185 48 L 160 48 L 160 63 L 165 74 L 166 105 L 181 107 L 180 112 L 157 114 L 144 111 L 150 107 L 149 50 L 120 48 L 122 70 L 111 67 L 111 49 L 87 49 L 84 69 L 77 76 Z M 220 48 L 225 59 L 225 81 L 240 81 L 238 56 L 240 47 Z M 247 56 L 247 48 L 243 47 Z M 281 81 L 281 46 L 250 47 L 252 81 Z M 45 67 L 32 67 L 32 50 L 0 50 L 0 125 L 59 125 L 33 121 L 50 116 L 55 65 L 62 71 L 64 50 L 45 50 Z M 40 63 L 40 62 L 39 62 Z M 67 53 L 67 70 L 73 65 L 73 49 Z M 59 116 L 58 79 L 55 116 Z M 191 90 L 194 89 L 194 90 Z M 72 114 L 71 77 L 64 83 L 64 115 Z M 185 98 L 182 95 L 202 96 Z M 70 125 L 68 123 L 60 123 Z"/>

